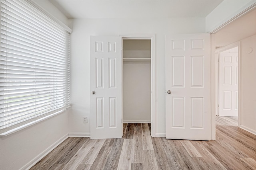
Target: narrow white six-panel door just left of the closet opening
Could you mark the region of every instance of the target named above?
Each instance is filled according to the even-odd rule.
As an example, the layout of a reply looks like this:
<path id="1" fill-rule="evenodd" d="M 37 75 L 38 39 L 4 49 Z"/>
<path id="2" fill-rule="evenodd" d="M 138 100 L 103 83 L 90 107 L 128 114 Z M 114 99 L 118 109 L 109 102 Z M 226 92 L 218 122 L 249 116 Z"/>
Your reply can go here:
<path id="1" fill-rule="evenodd" d="M 122 137 L 121 37 L 90 37 L 91 139 Z"/>

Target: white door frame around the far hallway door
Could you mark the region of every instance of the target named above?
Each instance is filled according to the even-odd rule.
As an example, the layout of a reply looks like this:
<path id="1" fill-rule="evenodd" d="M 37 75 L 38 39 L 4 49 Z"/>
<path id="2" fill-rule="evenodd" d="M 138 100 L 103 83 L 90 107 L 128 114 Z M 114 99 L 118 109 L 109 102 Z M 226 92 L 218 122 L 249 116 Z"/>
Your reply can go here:
<path id="1" fill-rule="evenodd" d="M 240 109 L 241 109 L 241 106 L 240 106 L 240 104 L 241 104 L 241 101 L 240 101 L 240 94 L 241 94 L 241 83 L 240 83 L 240 80 L 241 80 L 241 76 L 240 76 L 240 62 L 241 62 L 241 57 L 240 57 L 240 51 L 241 51 L 241 48 L 240 48 L 240 45 L 241 45 L 241 43 L 240 43 L 240 41 L 238 41 L 238 42 L 235 42 L 235 43 L 232 43 L 232 44 L 230 44 L 230 45 L 226 45 L 226 46 L 224 46 L 224 47 L 219 47 L 218 49 L 216 49 L 216 60 L 218 61 L 219 59 L 220 59 L 220 53 L 222 53 L 222 52 L 224 52 L 224 51 L 226 51 L 226 50 L 229 50 L 229 49 L 232 49 L 232 48 L 234 48 L 234 47 L 238 47 L 238 127 L 240 127 L 240 125 L 241 125 L 241 123 L 240 123 L 240 117 L 241 117 L 241 111 L 240 111 Z M 219 115 L 219 108 L 218 108 L 218 104 L 220 103 L 220 98 L 219 98 L 219 96 L 220 96 L 220 84 L 219 84 L 219 79 L 220 79 L 220 75 L 219 75 L 219 72 L 220 72 L 220 63 L 219 62 L 216 62 L 216 106 L 215 106 L 215 108 L 216 108 L 216 112 L 215 112 L 215 114 L 216 115 Z"/>

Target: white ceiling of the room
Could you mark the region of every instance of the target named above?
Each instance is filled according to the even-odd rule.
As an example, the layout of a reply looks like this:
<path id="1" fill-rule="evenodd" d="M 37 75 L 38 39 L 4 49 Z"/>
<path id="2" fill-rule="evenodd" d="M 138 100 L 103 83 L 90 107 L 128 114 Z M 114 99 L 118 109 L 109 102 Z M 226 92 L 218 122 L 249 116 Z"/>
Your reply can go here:
<path id="1" fill-rule="evenodd" d="M 223 0 L 49 1 L 68 18 L 204 18 Z"/>

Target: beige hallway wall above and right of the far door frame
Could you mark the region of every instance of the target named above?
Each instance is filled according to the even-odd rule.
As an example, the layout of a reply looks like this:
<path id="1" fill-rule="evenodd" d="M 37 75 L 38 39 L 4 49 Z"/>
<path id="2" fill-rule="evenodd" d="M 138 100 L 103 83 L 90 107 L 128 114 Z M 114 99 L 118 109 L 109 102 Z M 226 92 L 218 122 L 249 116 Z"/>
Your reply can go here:
<path id="1" fill-rule="evenodd" d="M 216 47 L 240 41 L 240 127 L 256 133 L 256 9 L 215 34 Z"/>

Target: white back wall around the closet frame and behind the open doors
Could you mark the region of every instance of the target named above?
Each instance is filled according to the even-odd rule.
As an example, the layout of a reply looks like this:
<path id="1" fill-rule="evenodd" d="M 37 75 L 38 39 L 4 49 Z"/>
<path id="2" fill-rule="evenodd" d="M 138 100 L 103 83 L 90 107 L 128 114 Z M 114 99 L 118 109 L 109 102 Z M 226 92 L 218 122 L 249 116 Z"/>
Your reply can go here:
<path id="1" fill-rule="evenodd" d="M 75 19 L 71 35 L 70 133 L 90 133 L 90 35 L 155 34 L 156 133 L 165 133 L 165 35 L 204 33 L 204 18 Z M 82 117 L 88 116 L 88 123 Z"/>

